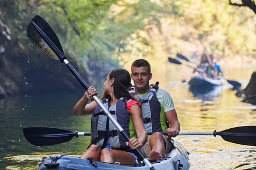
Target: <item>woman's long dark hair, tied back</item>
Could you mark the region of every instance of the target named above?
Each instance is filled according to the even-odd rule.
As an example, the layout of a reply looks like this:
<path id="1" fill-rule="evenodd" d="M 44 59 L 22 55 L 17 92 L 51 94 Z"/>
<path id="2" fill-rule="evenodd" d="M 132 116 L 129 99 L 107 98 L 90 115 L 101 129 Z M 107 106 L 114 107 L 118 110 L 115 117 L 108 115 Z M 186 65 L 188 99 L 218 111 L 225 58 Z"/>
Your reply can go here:
<path id="1" fill-rule="evenodd" d="M 114 96 L 119 99 L 120 97 L 127 97 L 136 100 L 128 91 L 131 85 L 130 73 L 123 68 L 113 69 L 109 73 L 109 78 L 114 78 Z"/>

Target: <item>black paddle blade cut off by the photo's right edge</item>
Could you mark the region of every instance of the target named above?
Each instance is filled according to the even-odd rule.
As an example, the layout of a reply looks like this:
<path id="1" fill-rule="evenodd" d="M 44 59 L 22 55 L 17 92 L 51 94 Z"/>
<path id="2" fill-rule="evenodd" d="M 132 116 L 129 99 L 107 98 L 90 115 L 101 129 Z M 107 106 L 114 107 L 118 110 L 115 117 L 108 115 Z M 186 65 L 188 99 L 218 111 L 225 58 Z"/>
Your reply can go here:
<path id="1" fill-rule="evenodd" d="M 221 136 L 224 140 L 241 144 L 256 146 L 256 126 L 241 126 L 227 129 L 214 134 Z"/>

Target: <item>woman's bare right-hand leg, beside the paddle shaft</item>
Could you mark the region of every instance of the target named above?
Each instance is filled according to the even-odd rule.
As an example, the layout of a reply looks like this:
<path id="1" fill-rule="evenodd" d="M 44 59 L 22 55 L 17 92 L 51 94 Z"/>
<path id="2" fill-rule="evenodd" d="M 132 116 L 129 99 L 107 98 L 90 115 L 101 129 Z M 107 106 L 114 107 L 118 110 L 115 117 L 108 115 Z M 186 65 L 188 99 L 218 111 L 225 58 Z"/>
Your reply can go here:
<path id="1" fill-rule="evenodd" d="M 102 149 L 101 156 L 100 156 L 101 162 L 107 162 L 107 163 L 115 163 L 119 162 L 120 165 L 135 167 L 136 162 L 133 157 L 128 152 L 120 151 L 120 150 L 112 150 L 112 149 Z"/>

